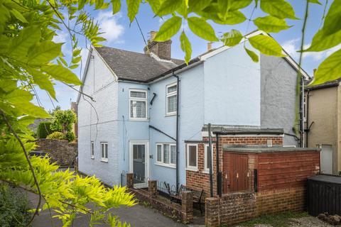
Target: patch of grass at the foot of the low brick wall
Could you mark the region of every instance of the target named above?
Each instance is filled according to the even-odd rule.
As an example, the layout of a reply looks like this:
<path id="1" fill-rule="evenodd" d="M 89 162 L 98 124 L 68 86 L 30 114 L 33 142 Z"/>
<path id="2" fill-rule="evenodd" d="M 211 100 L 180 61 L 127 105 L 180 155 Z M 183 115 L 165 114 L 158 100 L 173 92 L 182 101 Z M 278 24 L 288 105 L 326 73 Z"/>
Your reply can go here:
<path id="1" fill-rule="evenodd" d="M 281 214 L 259 216 L 250 221 L 239 223 L 237 226 L 253 227 L 257 224 L 264 224 L 274 227 L 287 227 L 289 226 L 290 222 L 293 223 L 293 221 L 290 220 L 291 218 L 303 218 L 307 216 L 308 214 L 305 212 L 301 213 L 284 212 Z"/>

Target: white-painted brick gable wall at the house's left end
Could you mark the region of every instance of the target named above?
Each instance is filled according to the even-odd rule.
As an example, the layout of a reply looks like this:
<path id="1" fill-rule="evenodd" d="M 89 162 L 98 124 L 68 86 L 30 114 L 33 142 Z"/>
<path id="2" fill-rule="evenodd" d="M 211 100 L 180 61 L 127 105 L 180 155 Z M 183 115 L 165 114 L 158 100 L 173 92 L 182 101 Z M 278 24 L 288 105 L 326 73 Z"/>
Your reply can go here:
<path id="1" fill-rule="evenodd" d="M 83 92 L 94 101 L 81 96 L 78 104 L 79 170 L 86 175 L 96 175 L 107 184 L 119 184 L 118 83 L 95 50 L 92 55 Z M 91 141 L 94 141 L 94 159 L 90 157 Z M 108 162 L 101 161 L 101 142 L 108 143 Z"/>

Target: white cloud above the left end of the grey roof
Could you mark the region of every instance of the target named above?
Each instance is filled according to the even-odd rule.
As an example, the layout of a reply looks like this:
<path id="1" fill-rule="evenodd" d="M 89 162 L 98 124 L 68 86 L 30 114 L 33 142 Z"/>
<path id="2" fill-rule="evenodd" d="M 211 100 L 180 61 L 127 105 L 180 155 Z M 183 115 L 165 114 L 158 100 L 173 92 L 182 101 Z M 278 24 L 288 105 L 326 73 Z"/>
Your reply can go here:
<path id="1" fill-rule="evenodd" d="M 102 36 L 107 39 L 108 43 L 121 43 L 121 35 L 124 33 L 124 26 L 118 23 L 117 19 L 121 15 L 112 15 L 111 11 L 101 11 L 97 16 L 100 32 L 104 33 Z"/>

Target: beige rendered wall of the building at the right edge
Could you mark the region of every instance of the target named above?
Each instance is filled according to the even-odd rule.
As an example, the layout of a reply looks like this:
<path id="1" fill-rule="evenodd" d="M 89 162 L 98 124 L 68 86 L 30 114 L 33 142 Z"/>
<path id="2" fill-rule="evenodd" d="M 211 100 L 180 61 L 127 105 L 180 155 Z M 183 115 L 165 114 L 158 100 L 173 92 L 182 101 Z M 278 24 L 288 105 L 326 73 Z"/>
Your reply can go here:
<path id="1" fill-rule="evenodd" d="M 330 87 L 310 91 L 309 109 L 307 109 L 308 124 L 310 125 L 310 123 L 314 122 L 308 132 L 308 147 L 315 148 L 316 145 L 332 145 L 332 172 L 334 174 L 341 170 L 341 167 L 337 167 L 337 159 L 340 159 L 341 156 L 337 155 L 337 131 L 340 128 L 337 120 L 338 90 L 338 87 Z"/>

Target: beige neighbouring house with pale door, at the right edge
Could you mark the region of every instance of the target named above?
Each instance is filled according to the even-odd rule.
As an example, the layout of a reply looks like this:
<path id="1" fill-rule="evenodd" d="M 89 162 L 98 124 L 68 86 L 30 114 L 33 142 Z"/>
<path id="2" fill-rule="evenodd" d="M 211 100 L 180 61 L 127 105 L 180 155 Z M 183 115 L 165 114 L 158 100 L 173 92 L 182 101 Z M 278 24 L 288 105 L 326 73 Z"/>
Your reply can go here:
<path id="1" fill-rule="evenodd" d="M 341 172 L 340 80 L 305 88 L 305 140 L 321 148 L 321 172 Z"/>

